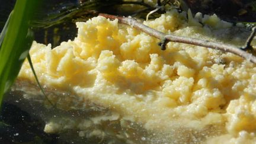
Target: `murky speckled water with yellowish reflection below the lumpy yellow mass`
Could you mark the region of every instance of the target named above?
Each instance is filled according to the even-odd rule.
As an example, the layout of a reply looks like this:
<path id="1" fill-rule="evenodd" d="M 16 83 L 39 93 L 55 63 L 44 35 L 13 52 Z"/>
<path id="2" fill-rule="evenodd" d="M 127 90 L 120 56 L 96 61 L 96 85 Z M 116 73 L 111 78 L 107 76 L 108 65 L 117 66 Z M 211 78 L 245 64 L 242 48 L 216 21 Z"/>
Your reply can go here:
<path id="1" fill-rule="evenodd" d="M 12 89 L 6 95 L 0 117 L 6 123 L 1 125 L 0 142 L 145 143 L 153 140 L 153 133 L 140 124 L 68 92 L 47 89 L 47 95 L 57 98 L 50 99 L 56 108 L 46 108 L 44 97 L 35 85 L 17 82 Z M 71 97 L 75 103 L 68 101 Z M 63 103 L 68 106 L 58 106 Z"/>

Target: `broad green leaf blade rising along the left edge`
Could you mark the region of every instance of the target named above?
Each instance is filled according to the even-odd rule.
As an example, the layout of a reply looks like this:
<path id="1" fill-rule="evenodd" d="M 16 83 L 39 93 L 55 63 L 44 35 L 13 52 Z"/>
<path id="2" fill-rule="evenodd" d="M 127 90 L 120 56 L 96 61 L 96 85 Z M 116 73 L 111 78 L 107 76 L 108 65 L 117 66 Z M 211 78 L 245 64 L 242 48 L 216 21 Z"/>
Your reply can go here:
<path id="1" fill-rule="evenodd" d="M 37 3 L 34 0 L 17 0 L 9 17 L 0 48 L 0 106 L 5 92 L 14 83 L 33 42 L 30 23 Z"/>

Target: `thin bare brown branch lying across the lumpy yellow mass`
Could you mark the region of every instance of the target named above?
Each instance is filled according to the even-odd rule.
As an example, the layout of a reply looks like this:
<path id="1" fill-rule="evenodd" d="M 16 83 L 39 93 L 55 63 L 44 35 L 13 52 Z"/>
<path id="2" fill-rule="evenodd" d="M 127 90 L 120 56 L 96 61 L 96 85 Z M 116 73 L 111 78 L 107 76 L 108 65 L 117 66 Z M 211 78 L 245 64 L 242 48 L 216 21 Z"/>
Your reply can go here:
<path id="1" fill-rule="evenodd" d="M 235 55 L 241 56 L 244 59 L 249 60 L 252 63 L 256 63 L 256 57 L 253 56 L 251 53 L 247 53 L 244 51 L 244 49 L 248 49 L 247 47 L 244 47 L 244 49 L 239 49 L 238 47 L 231 46 L 229 44 L 222 44 L 222 43 L 216 43 L 209 40 L 199 40 L 194 39 L 190 37 L 183 37 L 183 36 L 175 36 L 174 34 L 165 34 L 161 31 L 157 31 L 151 27 L 148 27 L 147 25 L 144 25 L 142 23 L 139 23 L 134 18 L 127 18 L 127 17 L 119 17 L 116 15 L 109 15 L 109 14 L 99 14 L 105 18 L 110 18 L 111 20 L 118 19 L 119 23 L 130 25 L 133 28 L 136 28 L 137 30 L 143 31 L 146 34 L 149 34 L 149 36 L 155 37 L 157 39 L 162 40 L 159 43 L 159 46 L 161 46 L 162 50 L 166 49 L 166 44 L 169 41 L 176 42 L 176 43 L 186 43 L 186 44 L 193 44 L 196 46 L 202 46 L 202 47 L 209 47 L 211 49 L 217 49 L 222 50 L 223 52 L 230 52 Z M 251 41 L 255 34 L 255 28 L 252 30 L 251 38 L 247 40 L 246 46 L 251 47 Z"/>

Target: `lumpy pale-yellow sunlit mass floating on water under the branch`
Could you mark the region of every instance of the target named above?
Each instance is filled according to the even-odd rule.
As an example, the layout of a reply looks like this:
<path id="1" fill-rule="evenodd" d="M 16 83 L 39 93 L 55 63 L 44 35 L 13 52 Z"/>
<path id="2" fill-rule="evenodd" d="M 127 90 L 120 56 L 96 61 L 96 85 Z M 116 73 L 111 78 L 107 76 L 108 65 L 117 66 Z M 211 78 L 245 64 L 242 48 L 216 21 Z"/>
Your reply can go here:
<path id="1" fill-rule="evenodd" d="M 144 24 L 164 33 L 236 46 L 247 36 L 234 32 L 239 28 L 216 15 L 193 17 L 188 12 L 187 20 L 184 12 L 170 11 Z M 162 138 L 170 143 L 175 139 L 255 142 L 256 67 L 252 63 L 231 53 L 181 43 L 168 43 L 162 51 L 158 39 L 100 16 L 76 25 L 78 36 L 54 49 L 33 43 L 30 55 L 42 85 L 71 91 L 142 123 L 145 129 L 168 133 Z M 27 60 L 18 79 L 35 83 Z M 49 121 L 44 130 L 57 133 L 59 129 Z M 187 136 L 191 132 L 197 133 L 193 140 Z"/>

